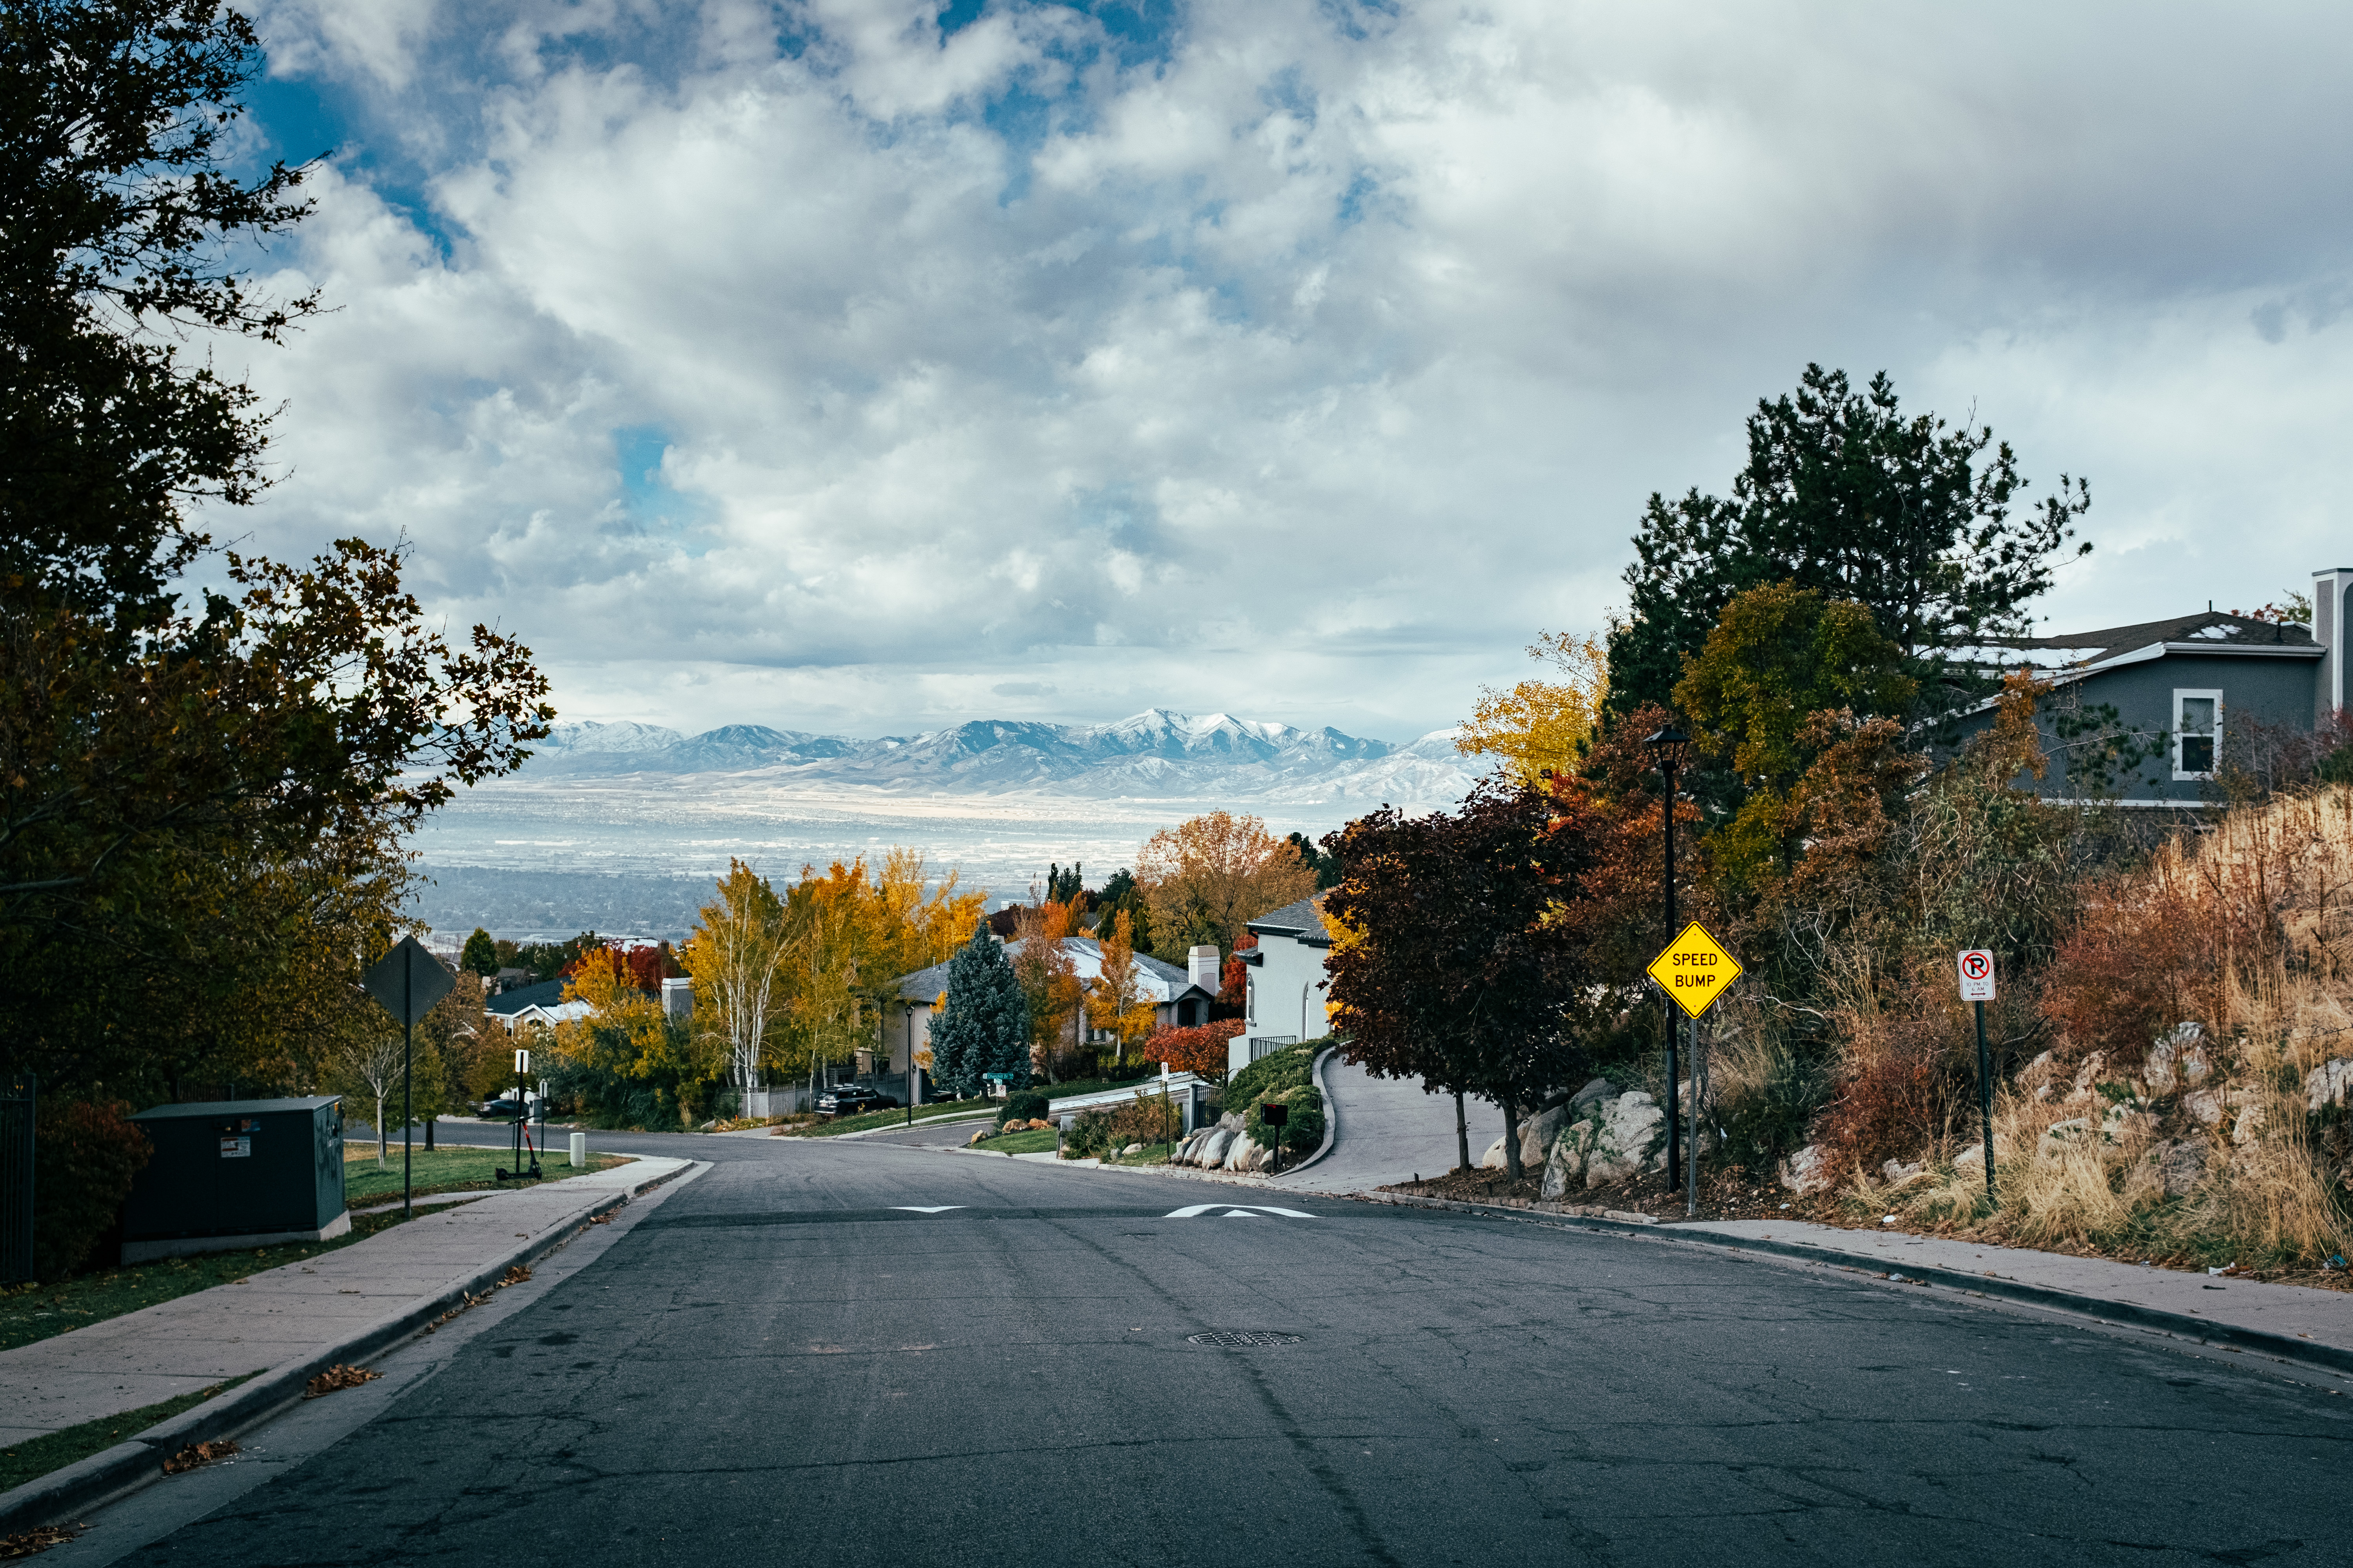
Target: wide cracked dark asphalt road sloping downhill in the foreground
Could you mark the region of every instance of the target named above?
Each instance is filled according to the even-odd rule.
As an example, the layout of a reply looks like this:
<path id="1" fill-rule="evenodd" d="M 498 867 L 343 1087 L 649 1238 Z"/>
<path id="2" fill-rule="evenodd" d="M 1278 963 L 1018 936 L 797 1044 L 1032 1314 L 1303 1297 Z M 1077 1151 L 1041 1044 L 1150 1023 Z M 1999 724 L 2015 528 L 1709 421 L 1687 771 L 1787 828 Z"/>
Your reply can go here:
<path id="1" fill-rule="evenodd" d="M 471 1338 L 256 1434 L 275 1469 L 59 1561 L 2348 1561 L 2353 1396 L 2275 1363 L 1647 1239 L 692 1147 Z"/>

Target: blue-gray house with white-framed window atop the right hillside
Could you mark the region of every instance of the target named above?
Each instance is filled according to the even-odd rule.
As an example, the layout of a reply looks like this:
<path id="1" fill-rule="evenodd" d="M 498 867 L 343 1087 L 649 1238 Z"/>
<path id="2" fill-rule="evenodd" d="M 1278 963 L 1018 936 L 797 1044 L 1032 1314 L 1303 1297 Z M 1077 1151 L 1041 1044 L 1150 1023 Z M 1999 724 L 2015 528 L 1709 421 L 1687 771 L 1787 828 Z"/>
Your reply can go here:
<path id="1" fill-rule="evenodd" d="M 2195 806 L 2217 769 L 2266 743 L 2334 726 L 2346 698 L 2346 597 L 2353 567 L 2313 574 L 2313 621 L 2257 621 L 2205 609 L 1986 649 L 1984 670 L 2028 668 L 2052 684 L 2038 710 L 2054 799 Z M 2024 658 L 2017 658 L 2024 654 Z M 1993 703 L 1960 715 L 1960 738 L 1993 724 Z"/>

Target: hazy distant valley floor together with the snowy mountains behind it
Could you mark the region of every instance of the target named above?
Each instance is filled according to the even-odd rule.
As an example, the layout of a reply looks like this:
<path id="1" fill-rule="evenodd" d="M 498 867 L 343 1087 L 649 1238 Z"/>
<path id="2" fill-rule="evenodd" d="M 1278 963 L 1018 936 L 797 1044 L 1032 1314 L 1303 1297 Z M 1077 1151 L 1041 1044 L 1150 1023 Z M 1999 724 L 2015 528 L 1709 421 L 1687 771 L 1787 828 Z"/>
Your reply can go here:
<path id="1" fill-rule="evenodd" d="M 1000 898 L 1049 863 L 1087 882 L 1198 811 L 1322 837 L 1379 804 L 1449 806 L 1480 771 L 1454 731 L 1409 743 L 1153 708 L 1118 724 L 974 719 L 859 741 L 762 724 L 687 736 L 659 724 L 558 724 L 513 778 L 459 797 L 416 835 L 435 931 L 581 929 L 685 936 L 729 858 L 776 879 L 805 863 L 920 849 Z"/>

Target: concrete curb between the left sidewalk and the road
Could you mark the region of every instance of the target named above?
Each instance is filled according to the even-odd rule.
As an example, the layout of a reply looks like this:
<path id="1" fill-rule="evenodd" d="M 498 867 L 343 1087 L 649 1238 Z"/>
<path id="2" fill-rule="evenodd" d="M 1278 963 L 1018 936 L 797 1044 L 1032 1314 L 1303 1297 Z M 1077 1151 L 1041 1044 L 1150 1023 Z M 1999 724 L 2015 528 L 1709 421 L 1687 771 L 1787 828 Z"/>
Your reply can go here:
<path id="1" fill-rule="evenodd" d="M 56 1523 L 68 1514 L 101 1507 L 115 1497 L 139 1490 L 141 1486 L 162 1481 L 162 1460 L 172 1458 L 184 1446 L 252 1432 L 280 1410 L 301 1403 L 304 1387 L 329 1366 L 336 1366 L 339 1361 L 365 1361 L 393 1349 L 402 1340 L 421 1333 L 424 1326 L 442 1312 L 461 1305 L 466 1295 L 496 1288 L 499 1276 L 518 1262 L 536 1262 L 539 1258 L 546 1258 L 555 1248 L 572 1241 L 598 1215 L 614 1213 L 631 1199 L 645 1197 L 664 1182 L 694 1175 L 696 1168 L 708 1171 L 711 1161 L 696 1159 L 678 1171 L 666 1171 L 652 1180 L 638 1182 L 635 1187 L 614 1192 L 607 1201 L 581 1213 L 579 1225 L 534 1237 L 522 1246 L 501 1253 L 496 1262 L 478 1269 L 473 1276 L 440 1291 L 438 1295 L 419 1298 L 407 1307 L 376 1319 L 367 1328 L 346 1335 L 329 1349 L 322 1349 L 306 1361 L 273 1366 L 226 1394 L 216 1394 L 193 1410 L 181 1410 L 172 1420 L 148 1427 L 146 1432 L 139 1432 L 104 1453 L 75 1460 L 64 1469 L 52 1469 L 49 1474 L 26 1481 L 9 1493 L 0 1493 L 0 1535 L 28 1530 L 40 1523 Z"/>

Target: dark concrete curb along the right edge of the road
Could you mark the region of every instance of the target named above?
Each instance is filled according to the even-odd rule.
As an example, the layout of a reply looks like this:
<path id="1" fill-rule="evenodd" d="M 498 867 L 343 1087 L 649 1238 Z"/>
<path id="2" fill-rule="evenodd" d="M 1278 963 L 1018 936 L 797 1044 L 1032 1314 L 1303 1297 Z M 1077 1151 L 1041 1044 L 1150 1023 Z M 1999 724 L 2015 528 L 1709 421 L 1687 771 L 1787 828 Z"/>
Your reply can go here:
<path id="1" fill-rule="evenodd" d="M 1515 1208 L 1499 1204 L 1459 1204 L 1454 1199 L 1426 1199 L 1407 1194 L 1367 1194 L 1367 1192 L 1322 1192 L 1318 1197 L 1344 1197 L 1360 1204 L 1388 1204 L 1393 1208 L 1447 1208 L 1454 1213 L 1475 1213 L 1489 1220 L 1522 1220 L 1532 1225 L 1546 1225 L 1553 1229 L 1593 1229 L 1612 1237 L 1642 1237 L 1649 1241 L 1682 1241 L 1687 1246 L 1715 1246 L 1734 1253 L 1767 1253 L 1774 1258 L 1795 1258 L 1800 1262 L 1821 1262 L 1849 1274 L 1868 1274 L 1873 1279 L 1899 1279 L 1904 1284 L 1932 1284 L 1960 1291 L 1962 1295 L 2000 1298 L 2024 1302 L 2028 1307 L 2052 1307 L 2057 1312 L 2073 1312 L 2078 1316 L 2089 1316 L 2115 1328 L 2141 1328 L 2151 1333 L 2162 1333 L 2167 1338 L 2191 1340 L 2193 1345 L 2207 1345 L 2212 1349 L 2226 1349 L 2231 1354 L 2261 1354 L 2275 1356 L 2280 1361 L 2297 1361 L 2304 1366 L 2325 1368 L 2332 1373 L 2353 1373 L 2353 1349 L 2339 1345 L 2320 1345 L 2315 1340 L 2299 1340 L 2285 1333 L 2271 1333 L 2268 1328 L 2240 1328 L 2235 1324 L 2214 1324 L 2202 1316 L 2188 1316 L 2186 1312 L 2165 1312 L 2162 1307 L 2141 1307 L 2137 1302 L 2118 1302 L 2104 1295 L 2082 1295 L 2078 1291 L 2059 1291 L 2054 1286 L 2033 1286 L 2024 1279 L 2000 1279 L 1995 1274 L 1965 1274 L 1960 1269 L 1939 1267 L 1908 1267 L 1908 1269 L 1878 1269 L 1868 1260 L 1854 1253 L 1840 1253 L 1828 1246 L 1812 1246 L 1805 1241 L 1767 1241 L 1765 1237 L 1725 1237 L 1720 1232 L 1689 1229 L 1682 1225 L 1631 1225 L 1626 1220 L 1605 1220 L 1600 1215 L 1572 1215 L 1572 1213 L 1548 1213 L 1544 1208 Z"/>

